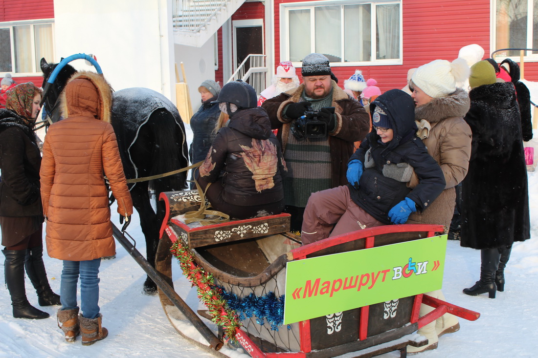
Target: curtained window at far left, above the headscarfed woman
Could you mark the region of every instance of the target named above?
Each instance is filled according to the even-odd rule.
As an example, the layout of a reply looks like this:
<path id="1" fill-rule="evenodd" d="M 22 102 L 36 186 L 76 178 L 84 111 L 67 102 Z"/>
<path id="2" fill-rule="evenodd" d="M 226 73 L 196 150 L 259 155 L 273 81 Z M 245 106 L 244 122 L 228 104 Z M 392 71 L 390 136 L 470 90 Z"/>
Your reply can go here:
<path id="1" fill-rule="evenodd" d="M 40 74 L 41 58 L 54 59 L 51 20 L 0 23 L 0 73 Z"/>

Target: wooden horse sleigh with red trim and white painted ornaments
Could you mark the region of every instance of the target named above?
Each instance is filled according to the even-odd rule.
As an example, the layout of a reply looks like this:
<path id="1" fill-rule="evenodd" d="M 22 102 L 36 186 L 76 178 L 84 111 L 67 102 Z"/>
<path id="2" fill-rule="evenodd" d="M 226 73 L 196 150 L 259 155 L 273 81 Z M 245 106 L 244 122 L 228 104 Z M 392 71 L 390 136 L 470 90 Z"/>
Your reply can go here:
<path id="1" fill-rule="evenodd" d="M 480 316 L 422 294 L 280 326 L 274 319 L 254 314 L 261 315 L 263 309 L 231 309 L 237 302 L 226 301 L 226 297 L 265 299 L 274 304 L 285 293 L 286 264 L 290 261 L 432 237 L 442 226 L 380 226 L 301 246 L 300 237 L 288 232 L 288 214 L 186 225 L 178 215 L 200 206 L 196 191 L 163 192 L 160 200 L 166 207 L 155 260 L 160 281 L 165 282 L 157 282 L 161 304 L 181 334 L 178 321 L 187 318 L 194 323 L 208 341 L 207 345 L 195 343 L 214 355 L 225 356 L 217 351 L 231 338 L 253 357 L 372 357 L 394 350 L 405 357 L 407 345 L 427 344 L 427 339 L 415 333 L 417 329 L 444 313 L 468 320 Z M 198 286 L 208 310 L 195 314 L 182 306 L 185 303 L 173 291 L 173 256 L 179 257 L 183 273 Z M 419 318 L 422 303 L 435 309 Z M 205 319 L 221 325 L 217 332 L 209 332 L 212 324 Z"/>

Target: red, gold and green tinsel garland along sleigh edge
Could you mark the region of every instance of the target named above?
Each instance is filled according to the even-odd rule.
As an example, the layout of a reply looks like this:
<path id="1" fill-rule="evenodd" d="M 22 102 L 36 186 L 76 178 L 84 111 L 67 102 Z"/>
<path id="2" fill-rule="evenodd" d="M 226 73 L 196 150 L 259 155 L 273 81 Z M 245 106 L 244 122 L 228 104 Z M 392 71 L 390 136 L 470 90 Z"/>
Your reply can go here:
<path id="1" fill-rule="evenodd" d="M 180 240 L 174 242 L 170 252 L 178 259 L 183 275 L 192 287 L 197 287 L 198 297 L 207 306 L 211 320 L 223 328 L 226 338 L 236 341 L 236 330 L 242 326 L 241 321 L 235 311 L 226 306 L 221 288 L 213 284 L 213 275 L 196 265 L 193 253 L 181 245 Z"/>

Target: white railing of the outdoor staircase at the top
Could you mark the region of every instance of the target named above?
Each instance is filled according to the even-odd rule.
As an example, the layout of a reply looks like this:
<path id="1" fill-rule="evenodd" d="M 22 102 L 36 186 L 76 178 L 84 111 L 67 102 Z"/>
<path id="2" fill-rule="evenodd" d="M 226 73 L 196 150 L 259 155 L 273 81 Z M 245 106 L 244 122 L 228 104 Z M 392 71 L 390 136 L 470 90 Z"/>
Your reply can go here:
<path id="1" fill-rule="evenodd" d="M 173 0 L 174 28 L 181 31 L 199 32 L 226 7 L 226 4 L 228 0 Z"/>

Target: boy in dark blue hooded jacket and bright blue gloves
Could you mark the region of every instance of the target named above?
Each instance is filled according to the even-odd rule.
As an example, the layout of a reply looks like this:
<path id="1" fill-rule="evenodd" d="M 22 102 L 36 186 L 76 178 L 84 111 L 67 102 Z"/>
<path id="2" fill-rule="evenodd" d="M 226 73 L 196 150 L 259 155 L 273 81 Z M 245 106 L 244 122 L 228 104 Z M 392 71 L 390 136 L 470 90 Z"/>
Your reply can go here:
<path id="1" fill-rule="evenodd" d="M 405 224 L 445 187 L 441 167 L 416 137 L 415 104 L 393 89 L 370 104 L 372 131 L 348 163 L 348 185 L 313 193 L 303 217 L 303 245 L 367 227 Z M 408 188 L 412 171 L 419 184 Z"/>

